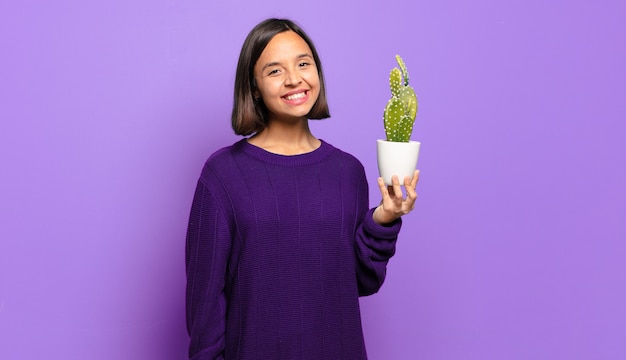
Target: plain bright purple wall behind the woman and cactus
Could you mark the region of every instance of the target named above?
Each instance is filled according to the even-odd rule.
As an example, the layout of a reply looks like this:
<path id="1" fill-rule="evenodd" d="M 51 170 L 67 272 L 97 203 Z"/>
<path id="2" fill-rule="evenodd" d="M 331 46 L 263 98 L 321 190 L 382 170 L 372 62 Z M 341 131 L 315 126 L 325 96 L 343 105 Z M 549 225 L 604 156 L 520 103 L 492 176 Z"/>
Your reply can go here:
<path id="1" fill-rule="evenodd" d="M 314 39 L 379 200 L 402 55 L 417 207 L 362 300 L 372 360 L 626 358 L 624 1 L 2 1 L 0 358 L 184 359 L 184 235 L 269 16 Z"/>

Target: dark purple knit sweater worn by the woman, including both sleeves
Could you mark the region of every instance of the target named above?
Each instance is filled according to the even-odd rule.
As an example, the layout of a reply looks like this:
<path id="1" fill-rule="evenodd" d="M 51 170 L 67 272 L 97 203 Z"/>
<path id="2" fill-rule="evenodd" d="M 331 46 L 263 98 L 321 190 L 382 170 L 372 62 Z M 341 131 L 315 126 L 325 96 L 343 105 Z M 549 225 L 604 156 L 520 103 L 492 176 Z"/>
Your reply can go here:
<path id="1" fill-rule="evenodd" d="M 213 154 L 186 244 L 191 359 L 366 359 L 359 296 L 378 291 L 401 220 L 372 219 L 361 163 L 322 141 Z"/>

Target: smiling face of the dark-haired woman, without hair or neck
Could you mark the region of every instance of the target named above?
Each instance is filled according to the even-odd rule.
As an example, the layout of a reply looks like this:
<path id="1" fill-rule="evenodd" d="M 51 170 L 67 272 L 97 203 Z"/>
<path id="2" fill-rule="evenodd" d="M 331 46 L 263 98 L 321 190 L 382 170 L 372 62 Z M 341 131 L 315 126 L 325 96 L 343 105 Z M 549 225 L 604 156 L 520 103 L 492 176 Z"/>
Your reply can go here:
<path id="1" fill-rule="evenodd" d="M 306 118 L 319 96 L 313 53 L 293 31 L 278 33 L 267 44 L 254 66 L 254 78 L 270 121 Z"/>

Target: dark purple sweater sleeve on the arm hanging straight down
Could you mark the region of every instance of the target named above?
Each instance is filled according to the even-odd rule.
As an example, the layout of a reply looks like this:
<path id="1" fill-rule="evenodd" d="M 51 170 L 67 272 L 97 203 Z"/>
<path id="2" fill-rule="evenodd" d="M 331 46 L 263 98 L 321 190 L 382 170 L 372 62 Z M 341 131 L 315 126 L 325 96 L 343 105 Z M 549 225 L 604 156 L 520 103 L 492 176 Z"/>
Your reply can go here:
<path id="1" fill-rule="evenodd" d="M 207 186 L 198 181 L 185 248 L 189 358 L 223 359 L 226 327 L 224 295 L 231 247 L 228 222 Z"/>

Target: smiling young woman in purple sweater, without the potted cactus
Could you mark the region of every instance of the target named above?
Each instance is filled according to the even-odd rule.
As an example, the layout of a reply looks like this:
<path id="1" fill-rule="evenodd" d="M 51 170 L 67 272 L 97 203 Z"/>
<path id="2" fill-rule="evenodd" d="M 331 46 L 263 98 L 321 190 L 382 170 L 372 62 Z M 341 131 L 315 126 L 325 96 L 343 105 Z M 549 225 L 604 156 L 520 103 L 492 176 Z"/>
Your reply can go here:
<path id="1" fill-rule="evenodd" d="M 378 291 L 418 172 L 369 209 L 361 163 L 317 139 L 320 58 L 289 20 L 246 38 L 232 126 L 198 181 L 186 244 L 191 359 L 366 359 L 359 296 Z"/>

